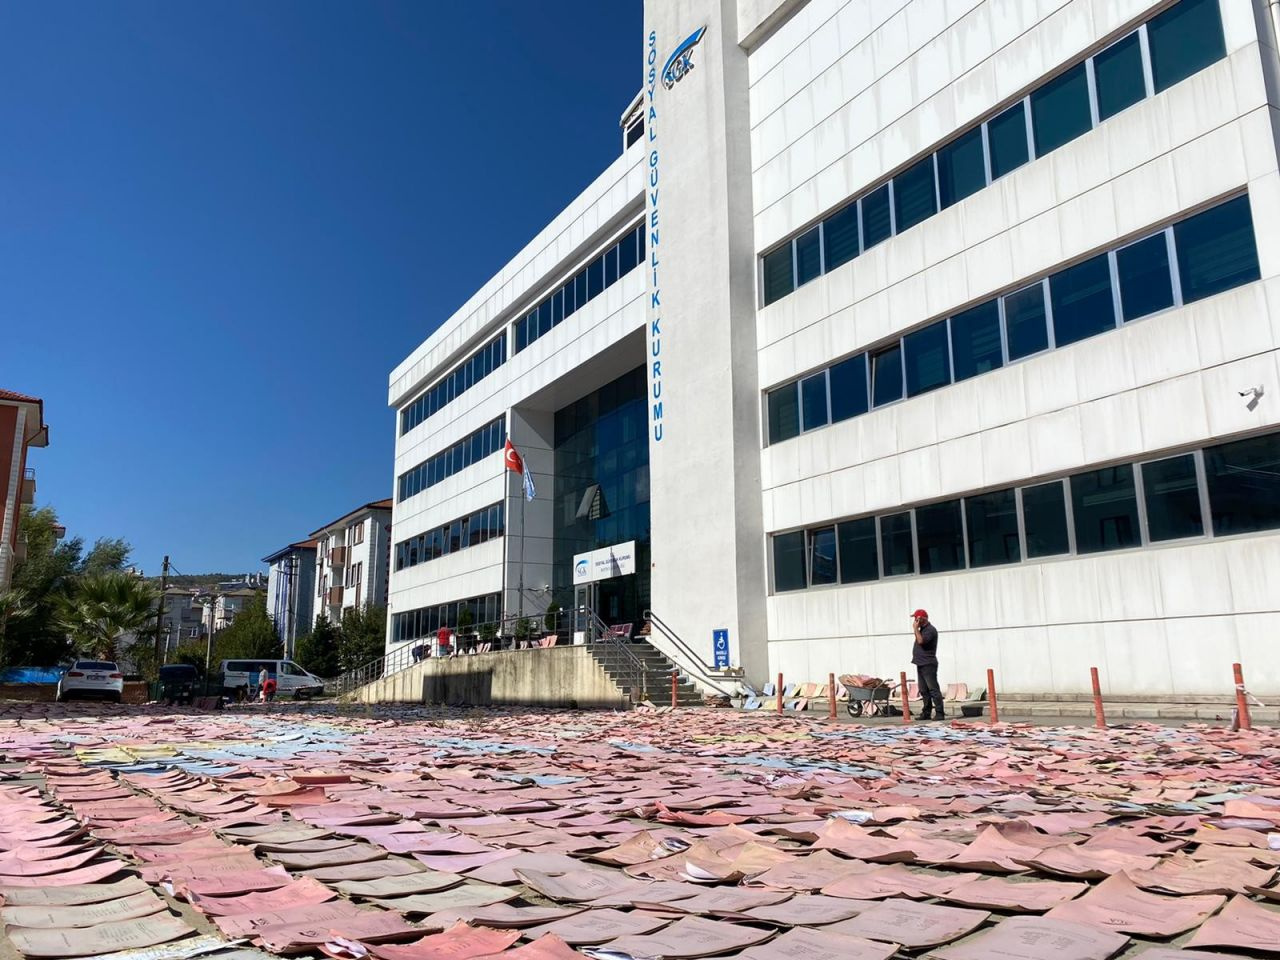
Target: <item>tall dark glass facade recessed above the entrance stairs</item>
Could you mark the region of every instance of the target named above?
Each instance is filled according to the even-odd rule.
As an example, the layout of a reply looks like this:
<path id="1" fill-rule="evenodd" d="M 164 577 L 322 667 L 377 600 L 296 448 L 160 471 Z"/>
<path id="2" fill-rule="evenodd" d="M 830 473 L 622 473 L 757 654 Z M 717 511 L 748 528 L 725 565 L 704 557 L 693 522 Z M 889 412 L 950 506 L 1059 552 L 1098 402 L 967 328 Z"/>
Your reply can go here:
<path id="1" fill-rule="evenodd" d="M 649 607 L 649 431 L 645 369 L 556 411 L 552 599 L 572 609 L 573 556 L 636 541 L 636 572 L 599 584 L 598 613 L 639 622 Z"/>

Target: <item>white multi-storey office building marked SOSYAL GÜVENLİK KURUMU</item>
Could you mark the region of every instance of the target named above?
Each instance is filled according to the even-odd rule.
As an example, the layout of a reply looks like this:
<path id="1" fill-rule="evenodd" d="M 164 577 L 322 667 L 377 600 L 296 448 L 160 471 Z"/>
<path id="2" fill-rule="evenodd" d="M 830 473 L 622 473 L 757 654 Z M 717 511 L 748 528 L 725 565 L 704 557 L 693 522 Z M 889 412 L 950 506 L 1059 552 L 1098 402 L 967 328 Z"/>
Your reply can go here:
<path id="1" fill-rule="evenodd" d="M 589 603 L 820 682 L 923 607 L 943 682 L 1280 692 L 1271 13 L 646 3 L 621 156 L 390 375 L 389 646 Z"/>

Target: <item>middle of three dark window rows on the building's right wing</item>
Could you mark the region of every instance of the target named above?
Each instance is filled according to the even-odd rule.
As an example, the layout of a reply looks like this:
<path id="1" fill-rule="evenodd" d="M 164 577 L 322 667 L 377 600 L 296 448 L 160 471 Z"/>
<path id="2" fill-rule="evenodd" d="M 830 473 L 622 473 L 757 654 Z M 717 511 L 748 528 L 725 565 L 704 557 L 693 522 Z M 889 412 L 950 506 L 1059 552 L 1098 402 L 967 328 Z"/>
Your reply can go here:
<path id="1" fill-rule="evenodd" d="M 1171 247 L 1176 247 L 1172 264 Z M 829 422 L 867 412 L 863 398 L 868 356 L 872 406 L 879 407 L 904 396 L 904 356 L 906 396 L 914 397 L 996 370 L 1006 360 L 1021 360 L 1112 330 L 1117 301 L 1121 316 L 1134 320 L 1172 306 L 1179 287 L 1179 302 L 1192 302 L 1260 275 L 1249 197 L 1242 195 L 1021 289 L 934 320 L 869 355 L 840 361 L 826 371 Z M 809 375 L 806 381 L 817 381 L 823 372 Z M 800 431 L 796 390 L 795 383 L 769 390 L 769 443 Z M 818 416 L 806 420 L 805 429 L 822 425 Z"/>

